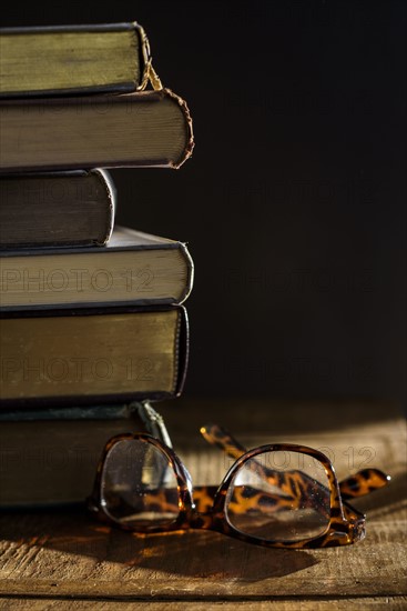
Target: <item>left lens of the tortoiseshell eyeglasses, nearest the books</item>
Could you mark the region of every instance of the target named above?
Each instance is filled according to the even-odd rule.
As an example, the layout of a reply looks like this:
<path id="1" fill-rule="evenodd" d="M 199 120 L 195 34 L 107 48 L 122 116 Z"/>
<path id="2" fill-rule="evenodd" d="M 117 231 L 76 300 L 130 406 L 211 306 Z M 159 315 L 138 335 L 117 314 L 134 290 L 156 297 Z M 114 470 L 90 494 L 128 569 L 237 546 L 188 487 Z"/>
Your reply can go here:
<path id="1" fill-rule="evenodd" d="M 111 448 L 101 498 L 110 518 L 130 527 L 165 525 L 179 515 L 175 473 L 165 454 L 141 439 L 121 440 Z"/>

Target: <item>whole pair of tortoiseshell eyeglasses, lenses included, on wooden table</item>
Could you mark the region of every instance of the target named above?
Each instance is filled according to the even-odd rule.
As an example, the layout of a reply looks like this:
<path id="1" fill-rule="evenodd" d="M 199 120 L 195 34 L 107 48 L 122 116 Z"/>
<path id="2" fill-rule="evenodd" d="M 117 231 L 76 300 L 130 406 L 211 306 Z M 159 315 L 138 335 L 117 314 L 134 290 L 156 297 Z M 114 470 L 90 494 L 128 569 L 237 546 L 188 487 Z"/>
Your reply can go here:
<path id="1" fill-rule="evenodd" d="M 266 547 L 346 545 L 365 537 L 365 515 L 347 500 L 390 479 L 364 469 L 338 483 L 318 450 L 274 443 L 247 451 L 216 424 L 201 433 L 236 459 L 220 487 L 193 489 L 186 468 L 161 440 L 119 434 L 103 450 L 89 509 L 144 533 L 206 529 Z"/>

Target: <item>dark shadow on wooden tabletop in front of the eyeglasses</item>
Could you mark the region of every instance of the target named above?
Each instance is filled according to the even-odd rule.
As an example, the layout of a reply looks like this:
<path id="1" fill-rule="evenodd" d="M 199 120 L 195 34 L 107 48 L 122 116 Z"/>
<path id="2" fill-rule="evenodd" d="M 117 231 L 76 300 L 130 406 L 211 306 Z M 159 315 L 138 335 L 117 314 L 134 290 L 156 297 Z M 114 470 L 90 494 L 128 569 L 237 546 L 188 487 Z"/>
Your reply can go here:
<path id="1" fill-rule="evenodd" d="M 4 532 L 4 525 L 8 532 Z M 2 539 L 58 550 L 79 563 L 124 564 L 169 575 L 262 580 L 306 569 L 319 560 L 303 550 L 252 545 L 207 531 L 134 534 L 92 521 L 83 510 L 0 514 Z M 74 532 L 74 534 L 73 534 Z"/>

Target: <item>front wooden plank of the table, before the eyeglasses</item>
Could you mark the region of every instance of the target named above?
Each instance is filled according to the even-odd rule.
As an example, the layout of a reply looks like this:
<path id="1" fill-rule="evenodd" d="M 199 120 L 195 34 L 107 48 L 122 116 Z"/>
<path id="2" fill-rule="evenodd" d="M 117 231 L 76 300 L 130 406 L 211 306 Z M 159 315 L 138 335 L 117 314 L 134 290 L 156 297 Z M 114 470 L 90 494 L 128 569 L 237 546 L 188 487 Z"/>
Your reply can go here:
<path id="1" fill-rule="evenodd" d="M 404 513 L 374 520 L 362 543 L 315 551 L 267 550 L 210 532 L 133 537 L 80 513 L 24 515 L 14 534 L 3 534 L 0 593 L 114 598 L 120 583 L 123 598 L 161 600 L 406 594 Z"/>

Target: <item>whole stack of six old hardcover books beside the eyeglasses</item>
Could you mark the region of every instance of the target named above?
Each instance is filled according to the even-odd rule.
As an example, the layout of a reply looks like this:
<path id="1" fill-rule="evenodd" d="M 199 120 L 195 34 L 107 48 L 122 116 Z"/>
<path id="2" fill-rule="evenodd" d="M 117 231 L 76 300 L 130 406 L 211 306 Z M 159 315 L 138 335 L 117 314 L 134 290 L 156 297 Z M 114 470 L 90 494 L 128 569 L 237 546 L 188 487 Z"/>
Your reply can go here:
<path id="1" fill-rule="evenodd" d="M 180 168 L 192 120 L 138 23 L 0 43 L 0 507 L 83 501 L 187 362 L 187 248 L 116 227 L 109 169 Z"/>

